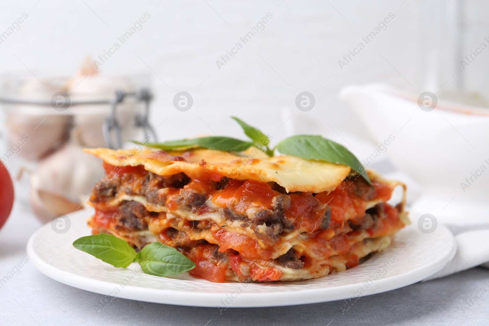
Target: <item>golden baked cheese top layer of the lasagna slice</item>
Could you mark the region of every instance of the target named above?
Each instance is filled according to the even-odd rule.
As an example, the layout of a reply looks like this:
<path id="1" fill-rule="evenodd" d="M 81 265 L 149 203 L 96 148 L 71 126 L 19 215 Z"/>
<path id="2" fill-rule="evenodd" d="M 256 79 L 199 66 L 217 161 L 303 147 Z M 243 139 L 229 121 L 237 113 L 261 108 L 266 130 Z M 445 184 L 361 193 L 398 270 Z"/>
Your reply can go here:
<path id="1" fill-rule="evenodd" d="M 324 161 L 280 155 L 265 158 L 252 154 L 239 156 L 230 152 L 214 150 L 192 150 L 170 152 L 181 155 L 185 161 L 171 160 L 171 155 L 158 155 L 158 151 L 110 150 L 104 148 L 86 149 L 105 162 L 114 166 L 137 166 L 159 175 L 173 175 L 183 172 L 190 178 L 213 175 L 227 176 L 239 180 L 276 182 L 287 192 L 330 192 L 350 173 L 350 168 Z M 258 152 L 258 151 L 257 151 Z M 262 158 L 258 158 L 262 157 Z M 203 160 L 203 161 L 202 161 Z"/>

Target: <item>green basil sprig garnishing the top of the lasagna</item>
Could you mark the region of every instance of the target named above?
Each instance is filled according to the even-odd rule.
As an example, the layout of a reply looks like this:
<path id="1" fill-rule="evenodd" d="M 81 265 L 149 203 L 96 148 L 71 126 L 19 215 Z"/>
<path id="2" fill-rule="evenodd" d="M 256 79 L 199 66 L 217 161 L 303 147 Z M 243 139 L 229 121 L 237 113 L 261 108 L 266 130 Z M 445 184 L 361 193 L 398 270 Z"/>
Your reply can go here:
<path id="1" fill-rule="evenodd" d="M 282 140 L 276 147 L 270 149 L 268 147 L 268 137 L 262 131 L 246 124 L 243 120 L 237 117 L 232 118 L 240 124 L 244 133 L 252 140 L 252 142 L 230 137 L 212 136 L 172 140 L 163 143 L 149 143 L 145 145 L 164 151 L 206 148 L 226 152 L 242 152 L 247 150 L 250 146 L 255 146 L 267 153 L 268 156 L 273 156 L 275 150 L 278 150 L 282 154 L 302 157 L 308 160 L 320 160 L 346 165 L 353 171 L 359 173 L 365 181 L 372 186 L 372 182 L 370 181 L 365 168 L 355 155 L 348 151 L 344 146 L 335 143 L 332 140 L 321 136 L 297 135 Z"/>

